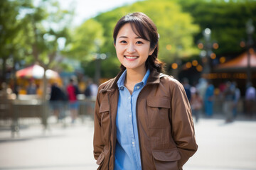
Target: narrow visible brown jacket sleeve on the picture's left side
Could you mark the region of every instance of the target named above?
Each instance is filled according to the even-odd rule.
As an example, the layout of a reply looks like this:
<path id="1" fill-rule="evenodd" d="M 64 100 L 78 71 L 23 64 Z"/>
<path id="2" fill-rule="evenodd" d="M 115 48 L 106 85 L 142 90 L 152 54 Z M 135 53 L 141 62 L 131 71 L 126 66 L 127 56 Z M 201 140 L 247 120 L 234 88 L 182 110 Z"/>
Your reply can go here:
<path id="1" fill-rule="evenodd" d="M 100 91 L 100 88 L 99 88 Z M 94 137 L 93 137 L 93 154 L 95 159 L 97 160 L 100 154 L 103 151 L 104 143 L 102 142 L 101 137 L 101 116 L 100 116 L 100 94 L 99 91 L 97 93 L 97 98 L 95 101 L 95 129 L 94 129 Z"/>

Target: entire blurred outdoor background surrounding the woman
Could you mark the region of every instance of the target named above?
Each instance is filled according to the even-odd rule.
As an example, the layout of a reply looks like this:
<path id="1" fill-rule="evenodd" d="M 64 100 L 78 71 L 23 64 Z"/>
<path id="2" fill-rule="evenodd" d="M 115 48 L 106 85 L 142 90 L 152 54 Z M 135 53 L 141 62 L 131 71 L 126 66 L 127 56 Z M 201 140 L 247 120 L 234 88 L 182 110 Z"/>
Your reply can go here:
<path id="1" fill-rule="evenodd" d="M 0 169 L 97 169 L 95 95 L 119 72 L 113 28 L 135 11 L 191 102 L 186 169 L 256 169 L 255 0 L 1 0 Z"/>

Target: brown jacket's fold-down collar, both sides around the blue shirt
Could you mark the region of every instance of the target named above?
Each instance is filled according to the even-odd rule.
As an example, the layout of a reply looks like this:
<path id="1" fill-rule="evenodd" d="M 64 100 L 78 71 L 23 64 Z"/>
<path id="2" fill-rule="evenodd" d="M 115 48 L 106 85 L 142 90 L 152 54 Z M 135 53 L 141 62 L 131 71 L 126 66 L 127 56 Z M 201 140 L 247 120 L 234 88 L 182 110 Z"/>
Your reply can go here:
<path id="1" fill-rule="evenodd" d="M 100 93 L 107 92 L 107 91 L 114 91 L 114 89 L 118 89 L 117 81 L 119 77 L 121 77 L 123 72 L 124 70 L 119 72 L 119 74 L 117 74 L 117 77 L 114 77 L 114 79 L 110 79 L 110 81 L 106 84 L 106 86 L 102 90 L 100 90 Z M 159 82 L 160 82 L 160 73 L 157 72 L 156 69 L 152 69 L 149 74 L 149 78 L 146 81 L 146 84 L 159 84 Z"/>

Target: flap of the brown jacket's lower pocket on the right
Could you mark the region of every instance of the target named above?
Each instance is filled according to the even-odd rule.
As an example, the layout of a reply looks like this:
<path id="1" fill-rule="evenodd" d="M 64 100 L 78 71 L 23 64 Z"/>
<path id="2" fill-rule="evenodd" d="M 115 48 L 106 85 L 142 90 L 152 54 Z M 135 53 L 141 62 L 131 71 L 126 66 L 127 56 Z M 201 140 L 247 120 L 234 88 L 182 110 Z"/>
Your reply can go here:
<path id="1" fill-rule="evenodd" d="M 174 162 L 181 159 L 178 149 L 152 151 L 154 159 L 161 162 Z"/>

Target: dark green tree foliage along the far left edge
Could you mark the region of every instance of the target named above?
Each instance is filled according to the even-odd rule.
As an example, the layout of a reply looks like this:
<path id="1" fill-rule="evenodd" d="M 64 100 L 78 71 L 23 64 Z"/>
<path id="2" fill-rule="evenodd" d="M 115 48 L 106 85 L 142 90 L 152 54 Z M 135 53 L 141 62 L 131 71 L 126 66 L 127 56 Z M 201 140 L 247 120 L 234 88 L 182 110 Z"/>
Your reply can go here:
<path id="1" fill-rule="evenodd" d="M 12 67 L 14 61 L 21 57 L 21 28 L 22 21 L 16 20 L 20 6 L 26 5 L 21 1 L 0 1 L 0 60 L 1 81 L 6 81 L 6 69 Z M 21 41 L 21 42 L 20 42 Z"/>

